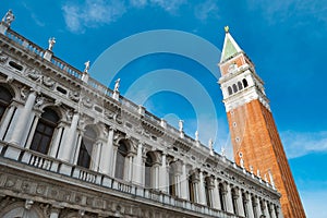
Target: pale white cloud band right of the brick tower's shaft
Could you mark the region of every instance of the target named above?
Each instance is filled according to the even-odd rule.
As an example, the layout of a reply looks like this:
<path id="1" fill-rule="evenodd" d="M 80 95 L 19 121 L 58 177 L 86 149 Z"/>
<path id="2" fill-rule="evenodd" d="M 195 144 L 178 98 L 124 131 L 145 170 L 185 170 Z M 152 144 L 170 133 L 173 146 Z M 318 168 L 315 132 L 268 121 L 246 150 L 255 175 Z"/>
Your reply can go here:
<path id="1" fill-rule="evenodd" d="M 296 133 L 287 131 L 280 133 L 288 158 L 296 158 L 310 153 L 327 152 L 327 131 L 313 133 Z"/>

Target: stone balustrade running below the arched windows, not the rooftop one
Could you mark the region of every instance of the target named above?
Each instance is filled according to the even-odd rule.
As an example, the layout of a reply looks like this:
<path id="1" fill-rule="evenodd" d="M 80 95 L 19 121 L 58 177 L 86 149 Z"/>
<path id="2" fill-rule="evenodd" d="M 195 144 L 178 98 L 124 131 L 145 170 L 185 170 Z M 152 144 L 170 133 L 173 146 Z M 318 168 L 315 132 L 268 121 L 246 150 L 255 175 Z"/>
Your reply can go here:
<path id="1" fill-rule="evenodd" d="M 87 187 L 87 183 L 93 183 L 112 190 L 112 192 L 118 191 L 129 194 L 133 197 L 141 197 L 152 201 L 153 203 L 158 203 L 159 206 L 168 205 L 181 208 L 183 210 L 190 210 L 193 213 L 199 213 L 215 217 L 239 218 L 239 216 L 227 211 L 217 210 L 205 205 L 181 199 L 162 193 L 158 190 L 145 189 L 140 185 L 119 181 L 114 178 L 108 177 L 107 174 L 81 168 L 78 166 L 73 166 L 34 150 L 5 144 L 3 142 L 0 142 L 0 165 L 4 159 L 10 159 L 11 161 L 37 168 L 40 170 L 40 174 L 44 174 L 41 173 L 43 170 L 53 172 L 53 179 L 56 179 L 56 174 L 58 174 L 58 178 L 65 175 L 74 180 L 85 182 L 85 187 Z M 22 166 L 21 169 L 24 170 L 26 168 Z M 38 170 L 34 170 L 34 172 L 37 173 Z"/>

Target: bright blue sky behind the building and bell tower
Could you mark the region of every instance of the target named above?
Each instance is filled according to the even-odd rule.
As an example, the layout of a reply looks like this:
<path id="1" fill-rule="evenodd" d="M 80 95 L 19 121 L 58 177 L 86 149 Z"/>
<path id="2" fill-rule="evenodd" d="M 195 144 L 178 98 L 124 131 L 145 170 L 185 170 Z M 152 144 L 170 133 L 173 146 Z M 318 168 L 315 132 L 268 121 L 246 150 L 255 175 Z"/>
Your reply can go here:
<path id="1" fill-rule="evenodd" d="M 2 0 L 0 5 L 1 14 L 13 10 L 14 31 L 44 48 L 48 47 L 48 38 L 55 36 L 57 57 L 80 70 L 90 60 L 90 76 L 110 87 L 120 77 L 121 94 L 141 100 L 173 126 L 178 126 L 179 119 L 184 120 L 190 135 L 201 128 L 202 142 L 207 144 L 209 137 L 215 138 L 217 152 L 230 146 L 228 125 L 217 84 L 219 71 L 208 70 L 203 61 L 218 63 L 219 56 L 215 57 L 209 47 L 222 48 L 223 26 L 229 25 L 265 81 L 307 217 L 327 217 L 322 210 L 327 199 L 326 1 Z M 121 49 L 117 58 L 150 43 L 165 48 L 170 43 L 179 51 L 145 52 L 128 60 L 118 72 L 111 71 L 116 57 L 105 68 L 93 64 L 113 45 L 120 48 L 135 34 L 158 29 L 179 31 L 185 40 L 169 41 L 167 37 L 147 35 L 142 44 Z M 185 57 L 185 51 L 202 56 Z M 184 89 L 179 89 L 179 85 Z M 217 129 L 216 135 L 211 129 Z"/>

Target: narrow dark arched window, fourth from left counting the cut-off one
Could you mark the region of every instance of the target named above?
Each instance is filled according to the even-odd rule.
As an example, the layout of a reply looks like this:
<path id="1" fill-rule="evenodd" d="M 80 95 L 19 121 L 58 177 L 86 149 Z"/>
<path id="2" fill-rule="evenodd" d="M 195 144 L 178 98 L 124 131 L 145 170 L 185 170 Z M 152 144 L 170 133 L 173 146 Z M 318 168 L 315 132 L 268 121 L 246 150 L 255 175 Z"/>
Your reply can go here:
<path id="1" fill-rule="evenodd" d="M 120 142 L 117 150 L 117 156 L 116 156 L 114 177 L 117 179 L 121 179 L 121 180 L 124 179 L 126 156 L 128 156 L 128 146 L 125 145 L 124 142 Z"/>

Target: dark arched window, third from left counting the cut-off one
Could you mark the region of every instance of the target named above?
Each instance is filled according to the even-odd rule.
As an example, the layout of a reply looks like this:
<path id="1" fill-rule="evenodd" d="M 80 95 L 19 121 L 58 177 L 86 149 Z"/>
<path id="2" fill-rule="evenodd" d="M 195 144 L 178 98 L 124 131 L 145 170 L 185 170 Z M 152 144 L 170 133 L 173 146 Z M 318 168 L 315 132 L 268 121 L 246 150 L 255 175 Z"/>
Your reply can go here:
<path id="1" fill-rule="evenodd" d="M 97 133 L 94 131 L 94 129 L 90 126 L 86 126 L 85 133 L 81 142 L 77 166 L 89 168 L 93 145 L 95 144 L 96 138 L 97 138 Z"/>

